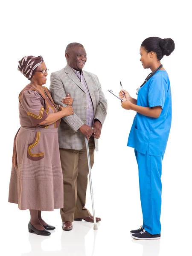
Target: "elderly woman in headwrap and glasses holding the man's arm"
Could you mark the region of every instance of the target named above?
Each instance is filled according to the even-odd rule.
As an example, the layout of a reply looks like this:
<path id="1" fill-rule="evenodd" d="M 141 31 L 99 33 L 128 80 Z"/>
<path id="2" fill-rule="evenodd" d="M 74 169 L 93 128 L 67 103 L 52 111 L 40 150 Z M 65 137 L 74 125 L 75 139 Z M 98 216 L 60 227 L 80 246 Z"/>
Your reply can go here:
<path id="1" fill-rule="evenodd" d="M 19 209 L 29 209 L 29 232 L 49 236 L 55 227 L 41 218 L 41 211 L 63 208 L 63 176 L 58 146 L 58 125 L 64 116 L 73 114 L 73 99 L 57 106 L 43 85 L 48 69 L 42 56 L 26 56 L 18 70 L 30 80 L 19 94 L 20 129 L 14 139 L 9 202 Z"/>

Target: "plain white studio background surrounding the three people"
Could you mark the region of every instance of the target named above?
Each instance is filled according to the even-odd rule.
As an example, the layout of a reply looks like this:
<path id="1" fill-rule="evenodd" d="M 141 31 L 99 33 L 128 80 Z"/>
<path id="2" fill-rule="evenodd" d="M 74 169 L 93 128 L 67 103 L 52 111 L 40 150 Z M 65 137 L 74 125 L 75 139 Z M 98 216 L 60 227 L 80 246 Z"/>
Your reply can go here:
<path id="1" fill-rule="evenodd" d="M 165 256 L 191 253 L 191 12 L 189 1 L 41 1 L 6 0 L 1 24 L 1 242 L 3 255 L 15 256 Z M 172 87 L 172 128 L 163 160 L 161 239 L 135 241 L 129 231 L 142 224 L 137 163 L 127 139 L 135 113 L 121 108 L 108 93 L 119 81 L 136 96 L 150 70 L 140 63 L 145 38 L 172 38 L 175 51 L 162 59 Z M 17 71 L 25 55 L 42 55 L 50 73 L 66 65 L 67 44 L 79 42 L 87 51 L 84 70 L 95 73 L 108 99 L 108 116 L 93 166 L 98 231 L 93 224 L 74 222 L 61 229 L 59 210 L 44 212 L 56 230 L 50 237 L 29 234 L 29 211 L 8 200 L 13 139 L 20 127 L 18 95 L 28 83 Z M 49 77 L 47 85 L 49 88 Z M 3 102 L 2 102 L 3 101 Z M 87 208 L 91 208 L 87 189 Z"/>

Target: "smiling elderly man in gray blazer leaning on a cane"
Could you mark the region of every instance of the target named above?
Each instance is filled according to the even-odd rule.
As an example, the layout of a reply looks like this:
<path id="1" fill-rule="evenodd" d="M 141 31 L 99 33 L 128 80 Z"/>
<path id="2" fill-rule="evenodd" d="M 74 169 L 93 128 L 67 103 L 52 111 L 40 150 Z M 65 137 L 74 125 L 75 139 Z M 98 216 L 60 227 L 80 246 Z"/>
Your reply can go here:
<path id="1" fill-rule="evenodd" d="M 50 91 L 54 102 L 61 104 L 64 97 L 73 97 L 71 116 L 61 119 L 58 128 L 61 166 L 64 180 L 64 208 L 61 209 L 63 230 L 72 230 L 73 220 L 93 222 L 86 209 L 88 163 L 84 137 L 89 140 L 91 168 L 94 150 L 107 115 L 107 100 L 96 75 L 82 71 L 87 54 L 82 44 L 71 43 L 65 50 L 67 66 L 53 72 Z M 63 105 L 66 106 L 66 105 Z M 93 129 L 91 128 L 93 127 Z M 96 221 L 101 221 L 96 218 Z"/>

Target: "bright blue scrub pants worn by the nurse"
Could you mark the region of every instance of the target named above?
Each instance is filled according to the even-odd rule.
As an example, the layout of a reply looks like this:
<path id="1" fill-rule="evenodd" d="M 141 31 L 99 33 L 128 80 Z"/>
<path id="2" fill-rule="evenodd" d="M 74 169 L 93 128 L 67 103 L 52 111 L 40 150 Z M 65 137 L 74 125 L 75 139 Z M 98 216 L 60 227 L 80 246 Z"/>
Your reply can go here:
<path id="1" fill-rule="evenodd" d="M 135 149 L 139 169 L 143 227 L 152 234 L 161 233 L 161 172 L 163 156 L 141 154 Z"/>

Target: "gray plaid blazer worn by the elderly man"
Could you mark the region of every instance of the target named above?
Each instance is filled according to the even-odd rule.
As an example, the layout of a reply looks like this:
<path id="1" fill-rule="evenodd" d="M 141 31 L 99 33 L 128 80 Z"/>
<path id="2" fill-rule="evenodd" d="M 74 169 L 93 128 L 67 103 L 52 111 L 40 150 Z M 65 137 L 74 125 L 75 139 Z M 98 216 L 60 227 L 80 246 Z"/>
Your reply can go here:
<path id="1" fill-rule="evenodd" d="M 103 125 L 107 115 L 107 100 L 102 92 L 99 79 L 96 75 L 87 71 L 83 71 L 83 76 L 93 102 L 94 119 L 98 119 Z M 68 65 L 59 71 L 53 72 L 50 81 L 49 89 L 57 105 L 66 106 L 61 103 L 61 99 L 64 99 L 67 93 L 73 98 L 74 114 L 64 116 L 58 127 L 59 147 L 80 150 L 84 147 L 84 134 L 79 131 L 79 128 L 86 123 L 87 111 L 84 88 Z M 98 151 L 97 139 L 95 139 L 95 148 Z"/>

